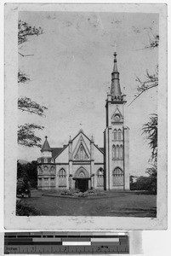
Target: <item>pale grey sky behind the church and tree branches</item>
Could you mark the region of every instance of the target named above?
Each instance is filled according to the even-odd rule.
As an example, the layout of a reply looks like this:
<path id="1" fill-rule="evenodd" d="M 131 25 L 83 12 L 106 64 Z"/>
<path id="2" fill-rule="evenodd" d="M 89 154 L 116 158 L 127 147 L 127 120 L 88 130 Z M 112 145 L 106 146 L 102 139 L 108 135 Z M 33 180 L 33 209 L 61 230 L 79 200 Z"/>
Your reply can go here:
<path id="1" fill-rule="evenodd" d="M 151 113 L 157 113 L 157 89 L 130 106 L 137 93 L 136 77 L 154 73 L 157 49 L 144 49 L 158 34 L 157 14 L 100 12 L 20 12 L 19 20 L 43 28 L 43 34 L 20 46 L 19 69 L 30 81 L 19 85 L 19 96 L 48 108 L 45 117 L 19 110 L 18 123 L 43 125 L 37 135 L 48 136 L 51 147 L 62 147 L 80 129 L 104 146 L 105 99 L 111 86 L 114 45 L 121 90 L 126 94 L 125 121 L 130 129 L 130 173 L 145 175 L 151 150 L 142 135 Z M 43 143 L 42 141 L 42 143 Z M 40 148 L 19 146 L 18 158 L 37 160 Z"/>

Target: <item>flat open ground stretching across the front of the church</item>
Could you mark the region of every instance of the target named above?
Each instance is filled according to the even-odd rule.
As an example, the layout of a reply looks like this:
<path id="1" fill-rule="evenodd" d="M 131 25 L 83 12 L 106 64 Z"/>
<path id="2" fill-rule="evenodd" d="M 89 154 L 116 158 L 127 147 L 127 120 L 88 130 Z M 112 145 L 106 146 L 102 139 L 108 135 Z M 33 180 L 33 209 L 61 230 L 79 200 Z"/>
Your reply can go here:
<path id="1" fill-rule="evenodd" d="M 143 192 L 109 191 L 99 198 L 61 198 L 45 196 L 43 193 L 31 191 L 31 198 L 21 201 L 37 207 L 43 216 L 157 217 L 157 195 Z"/>

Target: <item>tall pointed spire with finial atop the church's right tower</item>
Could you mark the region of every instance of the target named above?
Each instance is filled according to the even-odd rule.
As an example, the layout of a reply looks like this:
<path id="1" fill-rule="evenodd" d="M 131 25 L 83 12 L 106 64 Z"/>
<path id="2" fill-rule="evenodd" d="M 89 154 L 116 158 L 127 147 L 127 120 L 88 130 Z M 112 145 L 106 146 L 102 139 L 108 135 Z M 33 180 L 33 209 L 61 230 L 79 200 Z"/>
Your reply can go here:
<path id="1" fill-rule="evenodd" d="M 114 52 L 114 66 L 111 73 L 111 99 L 120 101 L 122 98 L 121 87 L 119 83 L 119 73 L 117 71 L 117 52 Z"/>

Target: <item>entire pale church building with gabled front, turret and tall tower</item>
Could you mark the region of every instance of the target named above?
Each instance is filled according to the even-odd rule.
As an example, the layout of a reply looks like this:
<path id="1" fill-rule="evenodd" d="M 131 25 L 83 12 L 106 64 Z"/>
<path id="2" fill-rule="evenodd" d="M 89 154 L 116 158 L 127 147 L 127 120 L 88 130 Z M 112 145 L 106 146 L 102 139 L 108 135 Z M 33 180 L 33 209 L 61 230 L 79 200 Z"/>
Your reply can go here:
<path id="1" fill-rule="evenodd" d="M 124 124 L 125 96 L 122 94 L 117 54 L 111 73 L 111 91 L 105 102 L 104 148 L 83 130 L 63 148 L 51 148 L 48 137 L 37 159 L 38 189 L 129 190 L 129 129 Z"/>

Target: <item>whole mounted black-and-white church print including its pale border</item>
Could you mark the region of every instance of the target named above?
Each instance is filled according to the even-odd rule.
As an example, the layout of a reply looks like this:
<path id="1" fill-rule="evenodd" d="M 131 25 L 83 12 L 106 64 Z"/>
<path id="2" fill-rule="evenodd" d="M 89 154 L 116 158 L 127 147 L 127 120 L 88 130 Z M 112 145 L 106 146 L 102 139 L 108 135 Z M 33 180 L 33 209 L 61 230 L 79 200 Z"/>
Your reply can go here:
<path id="1" fill-rule="evenodd" d="M 110 228 L 124 218 L 156 229 L 162 214 L 166 227 L 166 9 L 136 8 L 7 7 L 5 189 L 18 221 L 105 217 Z"/>

